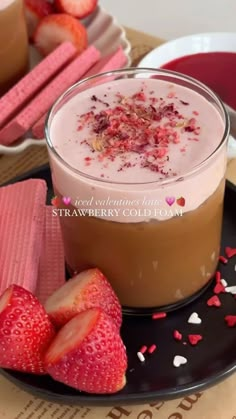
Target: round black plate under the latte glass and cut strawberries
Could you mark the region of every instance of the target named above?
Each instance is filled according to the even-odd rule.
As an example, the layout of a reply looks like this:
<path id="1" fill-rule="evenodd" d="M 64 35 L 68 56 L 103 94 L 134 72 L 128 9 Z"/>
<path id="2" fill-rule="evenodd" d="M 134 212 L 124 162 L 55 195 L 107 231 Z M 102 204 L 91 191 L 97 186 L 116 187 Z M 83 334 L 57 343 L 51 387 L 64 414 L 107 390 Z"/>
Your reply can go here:
<path id="1" fill-rule="evenodd" d="M 43 178 L 48 184 L 48 202 L 52 185 L 48 167 L 42 167 L 17 180 Z M 16 181 L 14 179 L 14 181 Z M 228 183 L 225 195 L 222 249 L 236 246 L 236 188 Z M 202 238 L 204 240 L 204 237 Z M 223 250 L 222 250 L 223 252 Z M 236 258 L 219 268 L 229 285 L 236 284 Z M 114 395 L 90 395 L 53 381 L 50 377 L 33 376 L 2 370 L 2 374 L 34 395 L 66 404 L 119 405 L 168 400 L 201 391 L 228 377 L 236 370 L 236 329 L 226 326 L 224 316 L 236 314 L 236 300 L 221 294 L 222 307 L 209 308 L 213 284 L 194 302 L 168 314 L 166 319 L 124 316 L 122 337 L 128 352 L 127 385 Z M 201 325 L 188 324 L 192 312 L 199 313 Z M 173 331 L 180 330 L 185 341 L 188 334 L 202 334 L 196 347 L 176 342 Z M 158 349 L 141 363 L 137 351 L 142 345 L 155 343 Z M 174 368 L 175 355 L 183 355 L 188 363 Z"/>

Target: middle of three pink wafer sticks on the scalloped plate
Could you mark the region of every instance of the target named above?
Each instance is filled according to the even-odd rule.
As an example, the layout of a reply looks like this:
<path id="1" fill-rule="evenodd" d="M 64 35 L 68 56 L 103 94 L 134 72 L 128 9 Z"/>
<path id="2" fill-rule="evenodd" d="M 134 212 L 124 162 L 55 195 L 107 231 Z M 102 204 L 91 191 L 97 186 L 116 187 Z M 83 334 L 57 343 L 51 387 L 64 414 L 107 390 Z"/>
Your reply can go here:
<path id="1" fill-rule="evenodd" d="M 24 135 L 49 110 L 55 100 L 77 82 L 99 58 L 100 53 L 95 47 L 87 48 L 0 131 L 0 143 L 7 145 Z"/>

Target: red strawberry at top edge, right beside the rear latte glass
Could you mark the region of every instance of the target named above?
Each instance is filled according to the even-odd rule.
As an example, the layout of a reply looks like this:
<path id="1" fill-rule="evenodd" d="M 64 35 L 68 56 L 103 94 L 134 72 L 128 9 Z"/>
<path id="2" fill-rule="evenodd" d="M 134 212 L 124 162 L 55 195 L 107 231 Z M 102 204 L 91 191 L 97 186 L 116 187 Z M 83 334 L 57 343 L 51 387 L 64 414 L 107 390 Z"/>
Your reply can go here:
<path id="1" fill-rule="evenodd" d="M 28 35 L 32 39 L 40 20 L 53 13 L 53 5 L 47 0 L 24 0 L 24 3 Z"/>

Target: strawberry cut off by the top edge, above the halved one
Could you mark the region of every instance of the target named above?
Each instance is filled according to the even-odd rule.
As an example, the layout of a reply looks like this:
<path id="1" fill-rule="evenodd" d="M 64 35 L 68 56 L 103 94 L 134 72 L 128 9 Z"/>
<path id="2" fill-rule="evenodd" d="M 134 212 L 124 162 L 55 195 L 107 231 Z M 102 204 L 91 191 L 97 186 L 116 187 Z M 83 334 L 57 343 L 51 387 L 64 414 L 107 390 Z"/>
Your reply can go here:
<path id="1" fill-rule="evenodd" d="M 59 12 L 68 13 L 79 19 L 90 15 L 97 6 L 98 0 L 55 0 Z"/>

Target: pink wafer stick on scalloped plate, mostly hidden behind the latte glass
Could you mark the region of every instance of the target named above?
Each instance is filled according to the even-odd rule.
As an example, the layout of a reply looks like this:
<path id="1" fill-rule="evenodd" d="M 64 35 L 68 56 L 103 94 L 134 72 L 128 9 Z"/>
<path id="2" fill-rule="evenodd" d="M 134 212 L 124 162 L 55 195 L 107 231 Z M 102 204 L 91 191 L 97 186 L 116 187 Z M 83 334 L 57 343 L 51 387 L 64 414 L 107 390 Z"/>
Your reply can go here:
<path id="1" fill-rule="evenodd" d="M 123 68 L 127 63 L 127 57 L 121 47 L 113 54 L 103 57 L 97 64 L 95 64 L 85 75 L 86 77 L 94 76 L 95 74 L 105 73 L 106 71 L 118 70 Z M 32 128 L 32 133 L 35 138 L 44 138 L 44 127 L 47 114 L 40 118 L 39 121 Z"/>

